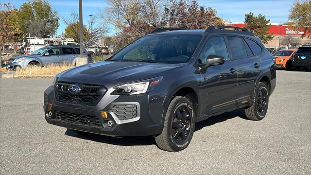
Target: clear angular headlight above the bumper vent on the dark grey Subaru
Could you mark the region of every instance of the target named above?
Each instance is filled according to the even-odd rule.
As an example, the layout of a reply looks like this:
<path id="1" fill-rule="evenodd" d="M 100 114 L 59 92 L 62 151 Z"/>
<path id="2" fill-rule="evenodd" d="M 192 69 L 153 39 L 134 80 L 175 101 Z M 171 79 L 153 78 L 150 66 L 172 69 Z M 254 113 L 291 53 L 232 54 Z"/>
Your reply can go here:
<path id="1" fill-rule="evenodd" d="M 114 87 L 116 90 L 114 90 L 111 94 L 112 95 L 135 95 L 135 94 L 146 93 L 148 88 L 154 87 L 156 84 L 159 84 L 161 80 L 162 80 L 162 76 L 153 78 L 150 80 L 146 80 L 143 82 L 119 85 L 119 86 Z"/>

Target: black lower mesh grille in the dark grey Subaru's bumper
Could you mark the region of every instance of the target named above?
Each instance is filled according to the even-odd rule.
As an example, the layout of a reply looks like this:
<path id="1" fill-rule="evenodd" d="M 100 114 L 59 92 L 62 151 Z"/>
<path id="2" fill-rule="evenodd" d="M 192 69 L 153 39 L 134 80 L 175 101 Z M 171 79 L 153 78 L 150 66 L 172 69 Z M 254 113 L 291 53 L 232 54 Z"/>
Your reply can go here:
<path id="1" fill-rule="evenodd" d="M 54 119 L 69 123 L 83 124 L 87 126 L 103 126 L 101 121 L 96 116 L 73 114 L 69 112 L 55 111 Z"/>

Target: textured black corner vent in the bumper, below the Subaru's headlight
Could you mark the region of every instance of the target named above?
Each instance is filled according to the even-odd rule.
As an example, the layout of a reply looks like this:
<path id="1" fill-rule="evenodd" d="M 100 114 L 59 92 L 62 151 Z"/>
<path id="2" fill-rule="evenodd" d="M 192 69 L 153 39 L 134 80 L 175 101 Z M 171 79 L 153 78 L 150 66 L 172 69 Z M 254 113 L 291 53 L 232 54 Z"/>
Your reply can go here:
<path id="1" fill-rule="evenodd" d="M 137 117 L 137 105 L 114 105 L 111 111 L 119 120 L 134 119 Z"/>

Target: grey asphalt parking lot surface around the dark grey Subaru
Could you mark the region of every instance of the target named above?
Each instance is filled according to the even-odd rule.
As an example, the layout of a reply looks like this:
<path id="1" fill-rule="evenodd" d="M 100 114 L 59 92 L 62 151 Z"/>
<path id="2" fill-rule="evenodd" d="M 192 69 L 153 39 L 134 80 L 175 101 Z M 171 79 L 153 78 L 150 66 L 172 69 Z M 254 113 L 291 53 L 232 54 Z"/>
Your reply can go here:
<path id="1" fill-rule="evenodd" d="M 51 83 L 0 78 L 1 174 L 311 174 L 311 72 L 278 70 L 264 120 L 242 110 L 211 117 L 178 153 L 152 137 L 78 135 L 46 123 Z"/>

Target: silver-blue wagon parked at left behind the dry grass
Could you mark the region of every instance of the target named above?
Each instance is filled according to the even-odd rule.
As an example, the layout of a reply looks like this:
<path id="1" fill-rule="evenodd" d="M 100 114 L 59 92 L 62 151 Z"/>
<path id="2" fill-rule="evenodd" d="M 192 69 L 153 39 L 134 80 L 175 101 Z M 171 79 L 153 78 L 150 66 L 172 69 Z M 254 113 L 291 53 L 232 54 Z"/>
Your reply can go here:
<path id="1" fill-rule="evenodd" d="M 87 63 L 92 63 L 91 54 L 84 50 Z M 29 55 L 20 55 L 8 60 L 7 69 L 25 69 L 27 66 L 49 66 L 49 65 L 75 65 L 76 58 L 80 55 L 79 46 L 46 46 L 36 50 Z"/>

